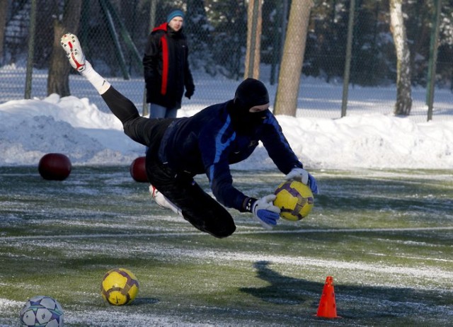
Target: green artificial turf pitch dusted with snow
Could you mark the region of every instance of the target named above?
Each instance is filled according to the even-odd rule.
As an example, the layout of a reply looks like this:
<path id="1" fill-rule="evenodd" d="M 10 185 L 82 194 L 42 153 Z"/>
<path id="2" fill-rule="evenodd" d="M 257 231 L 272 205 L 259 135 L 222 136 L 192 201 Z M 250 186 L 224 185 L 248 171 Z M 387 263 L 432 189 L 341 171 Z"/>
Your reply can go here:
<path id="1" fill-rule="evenodd" d="M 48 295 L 66 326 L 449 326 L 453 171 L 311 173 L 321 194 L 301 222 L 266 231 L 231 210 L 236 233 L 215 239 L 154 204 L 126 166 L 76 166 L 62 182 L 0 167 L 0 325 Z M 255 197 L 282 177 L 234 171 Z M 117 267 L 140 283 L 128 306 L 100 294 Z M 327 276 L 338 319 L 316 316 Z"/>

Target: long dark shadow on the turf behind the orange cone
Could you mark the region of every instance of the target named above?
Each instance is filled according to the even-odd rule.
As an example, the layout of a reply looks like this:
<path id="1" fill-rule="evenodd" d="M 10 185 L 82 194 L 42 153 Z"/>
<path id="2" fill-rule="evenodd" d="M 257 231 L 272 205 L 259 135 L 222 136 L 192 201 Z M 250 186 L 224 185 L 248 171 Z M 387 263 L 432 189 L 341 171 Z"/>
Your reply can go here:
<path id="1" fill-rule="evenodd" d="M 281 275 L 269 266 L 268 261 L 257 261 L 253 264 L 257 277 L 270 285 L 242 287 L 239 290 L 265 302 L 302 305 L 316 313 L 325 277 L 321 278 L 322 282 L 310 282 Z M 451 311 L 445 312 L 445 307 L 453 301 L 451 291 L 440 294 L 435 290 L 408 287 L 335 285 L 335 294 L 338 314 L 343 318 L 398 316 L 416 320 L 419 315 L 432 315 L 433 318 L 436 315 L 451 317 L 448 313 Z"/>

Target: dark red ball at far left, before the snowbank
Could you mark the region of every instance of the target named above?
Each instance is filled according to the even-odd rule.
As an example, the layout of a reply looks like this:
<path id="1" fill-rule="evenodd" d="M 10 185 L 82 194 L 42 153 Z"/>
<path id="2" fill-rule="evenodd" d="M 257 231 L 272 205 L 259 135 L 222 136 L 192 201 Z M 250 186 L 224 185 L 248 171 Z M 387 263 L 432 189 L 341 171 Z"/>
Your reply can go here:
<path id="1" fill-rule="evenodd" d="M 71 161 L 64 154 L 45 154 L 38 164 L 40 176 L 47 180 L 64 180 L 71 168 Z"/>

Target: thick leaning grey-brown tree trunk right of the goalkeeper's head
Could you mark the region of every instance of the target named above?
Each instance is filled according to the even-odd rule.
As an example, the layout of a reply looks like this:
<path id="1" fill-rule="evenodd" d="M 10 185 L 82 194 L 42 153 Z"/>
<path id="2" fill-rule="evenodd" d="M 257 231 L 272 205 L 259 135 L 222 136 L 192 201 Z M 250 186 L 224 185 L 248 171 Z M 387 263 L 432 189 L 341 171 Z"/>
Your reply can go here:
<path id="1" fill-rule="evenodd" d="M 278 76 L 275 115 L 296 117 L 306 35 L 313 6 L 313 0 L 298 0 L 291 3 L 282 64 Z"/>

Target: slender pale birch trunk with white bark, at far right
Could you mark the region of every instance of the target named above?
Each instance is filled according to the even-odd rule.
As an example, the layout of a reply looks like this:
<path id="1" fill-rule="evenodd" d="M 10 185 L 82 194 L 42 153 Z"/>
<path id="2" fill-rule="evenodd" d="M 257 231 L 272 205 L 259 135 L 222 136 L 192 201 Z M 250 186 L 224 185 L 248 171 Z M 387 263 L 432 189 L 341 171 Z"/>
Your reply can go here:
<path id="1" fill-rule="evenodd" d="M 411 52 L 406 38 L 403 20 L 403 0 L 390 0 L 391 33 L 396 50 L 396 103 L 395 115 L 409 115 L 412 108 L 411 97 Z"/>

